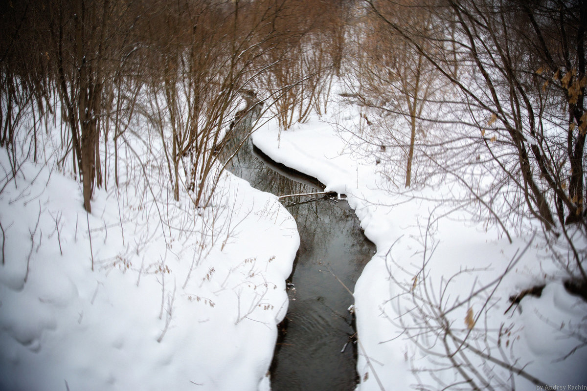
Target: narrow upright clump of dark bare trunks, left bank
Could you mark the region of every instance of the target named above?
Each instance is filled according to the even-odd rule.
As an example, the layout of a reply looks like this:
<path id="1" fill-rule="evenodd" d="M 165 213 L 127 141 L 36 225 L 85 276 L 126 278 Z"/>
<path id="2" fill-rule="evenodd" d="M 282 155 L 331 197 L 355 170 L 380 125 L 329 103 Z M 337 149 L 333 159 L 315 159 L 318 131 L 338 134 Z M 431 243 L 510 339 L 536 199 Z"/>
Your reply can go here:
<path id="1" fill-rule="evenodd" d="M 49 8 L 49 7 L 48 7 Z M 103 2 L 62 2 L 50 13 L 50 38 L 55 48 L 58 86 L 73 142 L 73 155 L 83 183 L 84 208 L 100 174 L 100 127 L 104 114 L 104 84 L 110 80 L 107 56 L 112 56 L 109 27 L 114 6 Z M 108 54 L 106 54 L 108 52 Z"/>

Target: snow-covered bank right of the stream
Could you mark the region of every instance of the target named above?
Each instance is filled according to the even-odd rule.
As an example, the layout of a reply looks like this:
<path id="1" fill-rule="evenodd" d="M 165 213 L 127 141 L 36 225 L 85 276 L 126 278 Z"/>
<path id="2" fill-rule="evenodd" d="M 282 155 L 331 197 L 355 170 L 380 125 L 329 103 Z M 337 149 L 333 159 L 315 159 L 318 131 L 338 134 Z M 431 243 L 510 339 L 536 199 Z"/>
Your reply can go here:
<path id="1" fill-rule="evenodd" d="M 537 380 L 587 387 L 587 303 L 565 291 L 539 235 L 529 229 L 510 244 L 497 227 L 426 200 L 440 198 L 442 186 L 390 191 L 376 152 L 365 157 L 350 148 L 361 141 L 352 134 L 363 121 L 359 111 L 345 104 L 329 110 L 330 117 L 287 131 L 268 124 L 253 142 L 345 194 L 377 246 L 355 287 L 357 390 L 468 389 L 455 362 L 477 370 L 484 389 L 539 389 Z M 540 298 L 527 295 L 508 310 L 510 295 L 537 284 L 546 284 Z M 537 379 L 512 380 L 507 366 Z"/>

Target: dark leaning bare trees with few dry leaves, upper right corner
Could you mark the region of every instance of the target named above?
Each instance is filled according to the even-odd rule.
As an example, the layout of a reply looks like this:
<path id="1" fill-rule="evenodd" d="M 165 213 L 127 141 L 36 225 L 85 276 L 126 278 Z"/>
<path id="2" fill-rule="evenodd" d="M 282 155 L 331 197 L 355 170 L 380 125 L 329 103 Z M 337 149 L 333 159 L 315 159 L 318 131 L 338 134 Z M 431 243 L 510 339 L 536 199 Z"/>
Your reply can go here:
<path id="1" fill-rule="evenodd" d="M 474 140 L 477 131 L 476 142 L 488 154 L 488 159 L 478 155 L 478 164 L 519 189 L 513 199 L 512 192 L 504 195 L 517 205 L 514 210 L 530 213 L 547 231 L 557 225 L 555 220 L 562 231 L 569 223 L 585 230 L 585 194 L 579 185 L 584 181 L 587 126 L 585 7 L 580 2 L 532 7 L 525 2 L 421 2 L 422 9 L 434 5 L 434 23 L 450 32 L 425 45 L 420 35 L 384 13 L 386 2 L 367 3 L 460 95 L 441 102 L 453 113 L 446 120 L 456 125 L 450 138 Z M 441 52 L 430 49 L 441 45 Z M 459 72 L 454 71 L 456 63 Z M 494 191 L 500 192 L 503 185 L 496 183 Z M 573 252 L 585 278 L 581 256 Z"/>

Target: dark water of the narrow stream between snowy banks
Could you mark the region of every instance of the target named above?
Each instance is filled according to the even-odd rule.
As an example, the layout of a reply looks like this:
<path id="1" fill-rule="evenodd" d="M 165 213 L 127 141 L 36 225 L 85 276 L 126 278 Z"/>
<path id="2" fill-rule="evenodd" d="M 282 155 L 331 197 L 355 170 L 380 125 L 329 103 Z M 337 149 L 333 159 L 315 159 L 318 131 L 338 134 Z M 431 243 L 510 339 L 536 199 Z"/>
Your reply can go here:
<path id="1" fill-rule="evenodd" d="M 245 143 L 230 171 L 275 195 L 322 191 L 318 181 L 275 166 L 258 152 Z M 353 298 L 343 284 L 354 290 L 375 246 L 346 203 L 309 196 L 287 198 L 283 203 L 298 223 L 301 244 L 288 279 L 289 308 L 272 363 L 272 389 L 353 390 L 357 383 L 355 330 L 348 312 Z"/>

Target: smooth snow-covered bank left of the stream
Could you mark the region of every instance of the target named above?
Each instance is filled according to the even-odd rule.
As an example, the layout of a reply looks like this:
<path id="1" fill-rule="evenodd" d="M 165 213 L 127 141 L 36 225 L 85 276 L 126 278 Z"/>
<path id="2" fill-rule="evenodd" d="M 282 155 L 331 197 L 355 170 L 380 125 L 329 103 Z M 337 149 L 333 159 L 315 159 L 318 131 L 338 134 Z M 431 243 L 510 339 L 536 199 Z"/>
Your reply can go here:
<path id="1" fill-rule="evenodd" d="M 228 173 L 210 208 L 174 202 L 141 158 L 86 215 L 71 175 L 25 161 L 8 180 L 2 148 L 0 389 L 269 389 L 295 220 Z"/>

